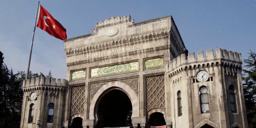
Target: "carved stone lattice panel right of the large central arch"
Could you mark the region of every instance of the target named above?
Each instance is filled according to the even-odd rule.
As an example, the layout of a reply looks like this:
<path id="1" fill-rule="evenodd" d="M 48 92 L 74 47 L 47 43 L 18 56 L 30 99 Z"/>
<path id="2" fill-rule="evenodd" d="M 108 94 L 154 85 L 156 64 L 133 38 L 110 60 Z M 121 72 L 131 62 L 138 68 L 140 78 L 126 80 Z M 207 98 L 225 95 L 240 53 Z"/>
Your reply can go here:
<path id="1" fill-rule="evenodd" d="M 146 77 L 147 110 L 165 109 L 164 75 Z"/>

